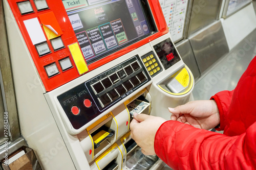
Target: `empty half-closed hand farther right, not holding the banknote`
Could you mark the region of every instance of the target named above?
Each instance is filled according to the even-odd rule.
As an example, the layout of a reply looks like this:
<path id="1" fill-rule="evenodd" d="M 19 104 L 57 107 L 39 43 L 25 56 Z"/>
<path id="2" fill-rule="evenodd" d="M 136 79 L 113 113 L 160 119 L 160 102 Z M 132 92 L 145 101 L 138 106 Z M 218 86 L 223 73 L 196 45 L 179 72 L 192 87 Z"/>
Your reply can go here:
<path id="1" fill-rule="evenodd" d="M 220 124 L 220 115 L 214 100 L 192 101 L 185 105 L 169 108 L 171 120 L 189 124 L 195 128 L 209 130 Z"/>

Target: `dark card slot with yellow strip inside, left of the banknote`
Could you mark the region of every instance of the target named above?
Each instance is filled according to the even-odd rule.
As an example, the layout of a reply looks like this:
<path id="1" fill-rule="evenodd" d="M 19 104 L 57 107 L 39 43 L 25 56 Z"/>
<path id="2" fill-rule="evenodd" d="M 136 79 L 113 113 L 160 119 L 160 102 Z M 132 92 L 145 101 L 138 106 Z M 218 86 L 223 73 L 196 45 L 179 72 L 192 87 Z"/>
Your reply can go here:
<path id="1" fill-rule="evenodd" d="M 104 125 L 99 129 L 97 129 L 95 132 L 92 133 L 94 149 L 97 149 L 103 141 L 112 137 L 114 134 L 115 134 L 114 130 Z"/>

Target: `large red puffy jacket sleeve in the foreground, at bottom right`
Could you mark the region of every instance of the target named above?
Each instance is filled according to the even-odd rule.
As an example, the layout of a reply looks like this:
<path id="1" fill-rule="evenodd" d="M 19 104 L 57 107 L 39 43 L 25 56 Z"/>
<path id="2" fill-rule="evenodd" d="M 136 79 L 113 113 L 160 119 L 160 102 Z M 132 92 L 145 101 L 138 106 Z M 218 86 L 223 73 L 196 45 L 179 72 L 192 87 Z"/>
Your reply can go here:
<path id="1" fill-rule="evenodd" d="M 155 136 L 157 156 L 174 169 L 255 169 L 256 123 L 226 136 L 169 120 Z"/>

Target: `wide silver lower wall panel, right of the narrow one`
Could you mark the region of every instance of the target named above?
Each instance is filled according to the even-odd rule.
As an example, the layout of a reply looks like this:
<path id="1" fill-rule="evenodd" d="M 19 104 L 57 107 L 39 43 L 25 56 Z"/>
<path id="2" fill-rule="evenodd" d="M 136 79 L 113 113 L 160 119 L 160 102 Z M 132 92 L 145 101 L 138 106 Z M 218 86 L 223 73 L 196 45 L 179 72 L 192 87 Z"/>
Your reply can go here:
<path id="1" fill-rule="evenodd" d="M 229 52 L 221 21 L 212 23 L 188 39 L 201 75 L 208 67 Z"/>

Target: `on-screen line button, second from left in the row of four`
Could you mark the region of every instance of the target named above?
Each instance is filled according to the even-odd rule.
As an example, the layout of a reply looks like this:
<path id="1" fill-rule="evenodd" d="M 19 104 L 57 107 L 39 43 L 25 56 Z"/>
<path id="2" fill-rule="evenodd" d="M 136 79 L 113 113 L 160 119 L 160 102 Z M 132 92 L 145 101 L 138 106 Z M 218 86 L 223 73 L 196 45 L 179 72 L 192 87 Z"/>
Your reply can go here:
<path id="1" fill-rule="evenodd" d="M 86 32 L 92 43 L 95 54 L 99 54 L 101 52 L 106 51 L 106 47 L 104 45 L 104 42 L 102 40 L 98 27 L 87 30 Z"/>

